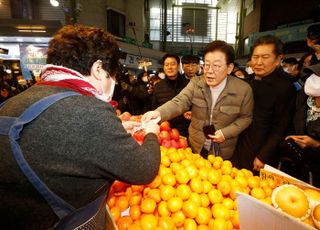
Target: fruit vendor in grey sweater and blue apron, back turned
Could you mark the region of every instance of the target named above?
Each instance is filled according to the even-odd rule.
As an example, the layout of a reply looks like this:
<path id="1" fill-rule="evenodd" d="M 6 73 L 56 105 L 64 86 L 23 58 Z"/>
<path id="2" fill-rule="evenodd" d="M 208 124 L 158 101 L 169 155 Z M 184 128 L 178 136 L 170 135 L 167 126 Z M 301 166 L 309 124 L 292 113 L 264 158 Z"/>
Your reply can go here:
<path id="1" fill-rule="evenodd" d="M 118 52 L 103 29 L 67 25 L 49 42 L 41 82 L 2 104 L 0 221 L 7 229 L 106 229 L 113 182 L 147 184 L 157 175 L 159 126 L 146 126 L 140 146 L 109 103 Z"/>

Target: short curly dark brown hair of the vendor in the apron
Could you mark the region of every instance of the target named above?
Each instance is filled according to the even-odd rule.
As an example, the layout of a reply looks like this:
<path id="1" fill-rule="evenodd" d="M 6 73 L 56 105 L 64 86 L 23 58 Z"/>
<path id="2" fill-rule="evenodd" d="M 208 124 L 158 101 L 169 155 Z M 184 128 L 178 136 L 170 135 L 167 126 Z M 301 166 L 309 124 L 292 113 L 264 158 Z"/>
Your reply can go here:
<path id="1" fill-rule="evenodd" d="M 47 64 L 61 65 L 90 75 L 94 62 L 101 60 L 111 75 L 119 67 L 119 47 L 114 37 L 96 27 L 67 25 L 49 42 Z"/>

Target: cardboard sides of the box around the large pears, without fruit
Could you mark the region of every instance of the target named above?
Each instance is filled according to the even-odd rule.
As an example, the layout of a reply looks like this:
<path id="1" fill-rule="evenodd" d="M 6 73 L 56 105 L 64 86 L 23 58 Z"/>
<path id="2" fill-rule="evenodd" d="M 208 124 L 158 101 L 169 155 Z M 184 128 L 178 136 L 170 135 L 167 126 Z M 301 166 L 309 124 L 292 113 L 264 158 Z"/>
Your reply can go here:
<path id="1" fill-rule="evenodd" d="M 278 184 L 292 183 L 303 187 L 313 186 L 283 173 L 269 165 L 264 167 L 263 177 L 272 178 Z M 318 189 L 317 189 L 318 190 Z M 296 218 L 281 212 L 244 193 L 237 193 L 240 229 L 244 230 L 314 230 Z"/>

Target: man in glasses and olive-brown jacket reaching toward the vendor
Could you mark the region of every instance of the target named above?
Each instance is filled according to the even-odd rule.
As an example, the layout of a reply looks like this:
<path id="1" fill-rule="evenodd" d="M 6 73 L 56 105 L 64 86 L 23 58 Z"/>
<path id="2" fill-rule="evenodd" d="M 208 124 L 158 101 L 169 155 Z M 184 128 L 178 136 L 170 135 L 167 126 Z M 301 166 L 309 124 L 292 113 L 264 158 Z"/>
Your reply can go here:
<path id="1" fill-rule="evenodd" d="M 238 135 L 252 121 L 250 86 L 230 76 L 234 49 L 224 41 L 213 41 L 204 50 L 204 75 L 193 77 L 172 100 L 142 117 L 169 120 L 192 107 L 189 143 L 193 152 L 231 158 Z"/>

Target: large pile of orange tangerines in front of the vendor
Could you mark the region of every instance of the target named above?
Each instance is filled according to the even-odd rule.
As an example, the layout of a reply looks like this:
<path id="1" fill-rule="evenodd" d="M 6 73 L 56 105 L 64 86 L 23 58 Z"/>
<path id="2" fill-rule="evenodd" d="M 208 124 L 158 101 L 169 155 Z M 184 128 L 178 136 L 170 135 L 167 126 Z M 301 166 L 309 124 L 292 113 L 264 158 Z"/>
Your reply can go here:
<path id="1" fill-rule="evenodd" d="M 107 205 L 122 229 L 239 229 L 237 191 L 271 204 L 276 187 L 251 171 L 237 169 L 228 160 L 208 160 L 190 148 L 161 146 L 158 175 L 148 185 L 116 181 Z"/>

